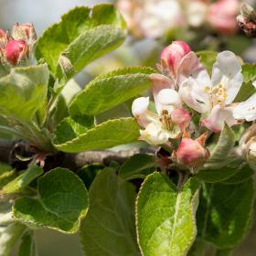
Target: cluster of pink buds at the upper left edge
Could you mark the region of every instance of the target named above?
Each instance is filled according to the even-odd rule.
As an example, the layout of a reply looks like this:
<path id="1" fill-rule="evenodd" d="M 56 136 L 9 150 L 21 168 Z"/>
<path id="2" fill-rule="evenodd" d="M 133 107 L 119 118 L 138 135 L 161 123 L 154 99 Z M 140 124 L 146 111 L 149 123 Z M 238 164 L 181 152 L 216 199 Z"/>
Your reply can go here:
<path id="1" fill-rule="evenodd" d="M 32 24 L 16 24 L 11 33 L 0 29 L 0 60 L 5 68 L 27 64 L 37 35 Z"/>

